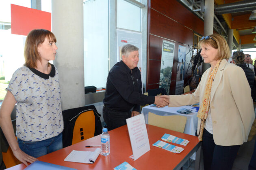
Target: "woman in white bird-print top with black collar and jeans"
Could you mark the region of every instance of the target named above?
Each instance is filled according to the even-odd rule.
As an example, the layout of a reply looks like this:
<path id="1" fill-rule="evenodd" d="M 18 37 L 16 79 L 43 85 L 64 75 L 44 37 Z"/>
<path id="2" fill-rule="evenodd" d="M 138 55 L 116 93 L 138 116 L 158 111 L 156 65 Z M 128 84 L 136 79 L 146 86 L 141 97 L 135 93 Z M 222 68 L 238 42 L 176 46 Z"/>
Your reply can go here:
<path id="1" fill-rule="evenodd" d="M 0 109 L 0 126 L 15 157 L 28 165 L 37 157 L 62 148 L 63 117 L 59 75 L 55 60 L 56 38 L 48 30 L 32 30 L 24 49 L 25 64 L 7 87 Z M 11 112 L 17 102 L 16 136 Z"/>

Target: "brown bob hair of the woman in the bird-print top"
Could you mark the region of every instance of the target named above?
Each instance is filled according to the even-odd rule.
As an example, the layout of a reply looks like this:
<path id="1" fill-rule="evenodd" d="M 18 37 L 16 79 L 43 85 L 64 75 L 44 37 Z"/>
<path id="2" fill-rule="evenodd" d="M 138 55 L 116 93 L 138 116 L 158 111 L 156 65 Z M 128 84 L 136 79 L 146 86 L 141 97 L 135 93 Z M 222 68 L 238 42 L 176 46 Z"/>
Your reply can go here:
<path id="1" fill-rule="evenodd" d="M 41 61 L 41 57 L 37 51 L 37 47 L 44 42 L 46 36 L 50 41 L 54 41 L 56 43 L 56 37 L 52 32 L 48 30 L 32 30 L 28 33 L 24 48 L 24 66 L 27 66 L 29 68 L 35 68 L 37 60 Z"/>

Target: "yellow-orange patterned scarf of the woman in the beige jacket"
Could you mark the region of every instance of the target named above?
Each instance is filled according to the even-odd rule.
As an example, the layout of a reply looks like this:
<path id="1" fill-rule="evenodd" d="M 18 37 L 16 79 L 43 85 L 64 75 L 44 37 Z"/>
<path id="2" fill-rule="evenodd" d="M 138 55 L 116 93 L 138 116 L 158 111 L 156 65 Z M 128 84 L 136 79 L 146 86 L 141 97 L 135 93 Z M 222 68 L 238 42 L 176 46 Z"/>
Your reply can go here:
<path id="1" fill-rule="evenodd" d="M 215 78 L 215 75 L 217 73 L 220 63 L 221 63 L 221 60 L 219 60 L 217 62 L 214 69 L 211 68 L 211 70 L 210 70 L 208 81 L 206 82 L 206 87 L 204 89 L 204 97 L 203 97 L 202 103 L 200 105 L 199 111 L 197 113 L 197 117 L 199 117 L 201 119 L 200 133 L 198 136 L 199 141 L 203 140 L 204 123 L 206 121 L 206 118 L 207 118 L 208 112 L 209 112 L 209 108 L 210 108 L 210 93 L 211 93 L 213 81 L 214 81 L 214 78 Z"/>

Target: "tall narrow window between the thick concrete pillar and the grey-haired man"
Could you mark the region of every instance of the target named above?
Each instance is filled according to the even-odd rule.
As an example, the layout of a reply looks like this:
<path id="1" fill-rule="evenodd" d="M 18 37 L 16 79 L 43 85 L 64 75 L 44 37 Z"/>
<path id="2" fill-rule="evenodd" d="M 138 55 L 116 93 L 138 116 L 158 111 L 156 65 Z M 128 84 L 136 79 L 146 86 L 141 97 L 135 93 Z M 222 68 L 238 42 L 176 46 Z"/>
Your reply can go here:
<path id="1" fill-rule="evenodd" d="M 105 87 L 108 76 L 108 0 L 84 2 L 85 86 Z"/>

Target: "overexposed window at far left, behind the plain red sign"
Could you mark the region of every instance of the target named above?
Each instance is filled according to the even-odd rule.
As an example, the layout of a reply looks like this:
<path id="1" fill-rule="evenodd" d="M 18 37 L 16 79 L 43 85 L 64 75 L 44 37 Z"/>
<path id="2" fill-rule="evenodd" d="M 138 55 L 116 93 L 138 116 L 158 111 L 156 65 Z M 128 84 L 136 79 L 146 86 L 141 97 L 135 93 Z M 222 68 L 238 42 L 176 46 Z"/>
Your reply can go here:
<path id="1" fill-rule="evenodd" d="M 30 1 L 0 1 L 0 100 L 6 94 L 5 88 L 8 86 L 13 72 L 24 64 L 23 53 L 26 36 L 11 34 L 11 4 L 30 8 Z"/>

